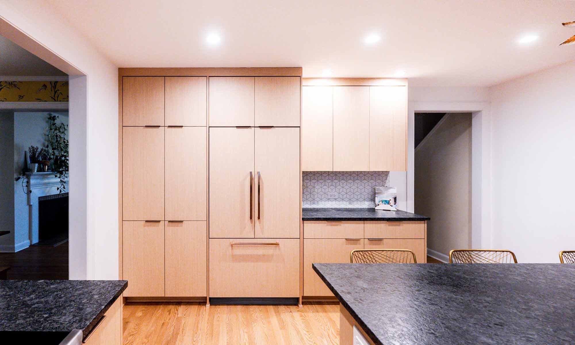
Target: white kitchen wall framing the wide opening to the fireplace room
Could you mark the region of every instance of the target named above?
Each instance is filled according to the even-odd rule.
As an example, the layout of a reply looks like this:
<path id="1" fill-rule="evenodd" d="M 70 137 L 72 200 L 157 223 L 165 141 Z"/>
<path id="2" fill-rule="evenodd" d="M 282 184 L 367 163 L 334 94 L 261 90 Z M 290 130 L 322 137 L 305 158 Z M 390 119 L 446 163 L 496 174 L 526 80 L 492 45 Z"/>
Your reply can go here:
<path id="1" fill-rule="evenodd" d="M 117 66 L 47 3 L 36 1 L 30 5 L 27 1 L 2 0 L 0 17 L 87 75 L 86 90 L 74 90 L 75 80 L 82 79 L 70 80 L 71 100 L 75 92 L 85 92 L 87 95 L 85 109 L 74 108 L 72 102 L 70 104 L 70 144 L 74 140 L 87 140 L 85 156 L 75 155 L 76 152 L 71 152 L 70 156 L 70 189 L 83 190 L 87 187 L 85 200 L 74 200 L 74 193 L 70 194 L 70 204 L 78 207 L 78 213 L 87 213 L 85 224 L 82 223 L 85 220 L 82 217 L 71 218 L 70 279 L 117 279 Z M 83 116 L 86 112 L 86 120 L 74 118 L 76 114 Z M 87 129 L 81 128 L 83 124 Z M 87 179 L 76 178 L 75 174 L 87 174 Z M 87 186 L 77 183 L 87 183 Z M 87 243 L 82 244 L 82 232 L 86 236 L 86 228 Z"/>

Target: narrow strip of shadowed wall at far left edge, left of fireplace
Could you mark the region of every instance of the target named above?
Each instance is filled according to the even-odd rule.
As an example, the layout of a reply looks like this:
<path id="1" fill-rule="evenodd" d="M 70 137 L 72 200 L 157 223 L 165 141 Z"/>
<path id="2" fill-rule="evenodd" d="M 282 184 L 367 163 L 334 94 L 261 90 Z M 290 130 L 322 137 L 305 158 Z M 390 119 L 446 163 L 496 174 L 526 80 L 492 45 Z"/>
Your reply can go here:
<path id="1" fill-rule="evenodd" d="M 14 114 L 0 112 L 0 251 L 14 251 Z"/>

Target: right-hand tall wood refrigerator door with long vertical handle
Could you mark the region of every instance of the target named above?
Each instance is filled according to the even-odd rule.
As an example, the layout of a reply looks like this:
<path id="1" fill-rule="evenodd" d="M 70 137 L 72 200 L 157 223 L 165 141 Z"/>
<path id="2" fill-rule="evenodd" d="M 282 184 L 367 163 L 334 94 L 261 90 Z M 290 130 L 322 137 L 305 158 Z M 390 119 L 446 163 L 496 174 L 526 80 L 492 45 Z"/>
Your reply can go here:
<path id="1" fill-rule="evenodd" d="M 255 237 L 300 237 L 300 128 L 255 129 Z"/>

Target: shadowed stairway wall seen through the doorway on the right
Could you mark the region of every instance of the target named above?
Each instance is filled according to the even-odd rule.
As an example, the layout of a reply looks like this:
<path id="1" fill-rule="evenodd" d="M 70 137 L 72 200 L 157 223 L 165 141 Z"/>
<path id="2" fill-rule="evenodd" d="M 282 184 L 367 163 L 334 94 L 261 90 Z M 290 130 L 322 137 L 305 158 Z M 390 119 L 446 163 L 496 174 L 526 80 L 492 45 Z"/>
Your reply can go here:
<path id="1" fill-rule="evenodd" d="M 415 212 L 431 217 L 427 248 L 471 248 L 471 114 L 446 114 L 415 151 Z"/>

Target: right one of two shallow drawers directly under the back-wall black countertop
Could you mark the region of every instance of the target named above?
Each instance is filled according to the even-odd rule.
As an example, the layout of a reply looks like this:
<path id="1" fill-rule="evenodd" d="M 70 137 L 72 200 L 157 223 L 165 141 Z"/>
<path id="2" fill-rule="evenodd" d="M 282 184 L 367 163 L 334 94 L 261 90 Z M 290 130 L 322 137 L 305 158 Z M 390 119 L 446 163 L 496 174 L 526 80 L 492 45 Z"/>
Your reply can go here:
<path id="1" fill-rule="evenodd" d="M 424 239 L 425 221 L 366 221 L 366 239 Z"/>

